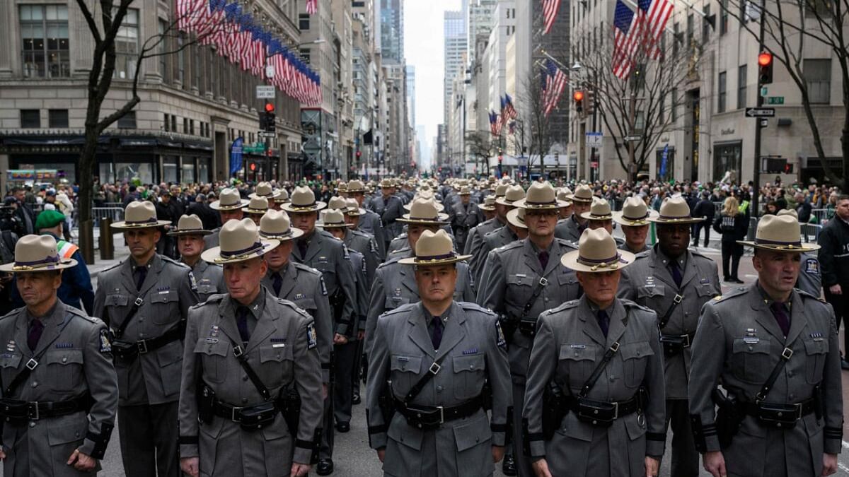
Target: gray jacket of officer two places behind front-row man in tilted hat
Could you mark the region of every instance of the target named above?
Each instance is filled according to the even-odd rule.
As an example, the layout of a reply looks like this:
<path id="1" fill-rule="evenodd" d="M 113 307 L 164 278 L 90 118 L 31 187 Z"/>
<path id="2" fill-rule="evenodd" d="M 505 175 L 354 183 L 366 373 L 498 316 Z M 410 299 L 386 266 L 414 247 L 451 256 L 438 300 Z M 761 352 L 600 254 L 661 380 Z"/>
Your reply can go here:
<path id="1" fill-rule="evenodd" d="M 291 260 L 299 261 L 306 266 L 315 268 L 324 278 L 328 297 L 333 297 L 340 290 L 345 295 L 345 305 L 342 316 L 334 325 L 334 333 L 350 335 L 357 328 L 354 320 L 357 311 L 357 281 L 351 268 L 351 254 L 341 240 L 329 232 L 315 230 L 309 239 L 306 256 L 301 256 L 297 244 L 292 247 Z"/>

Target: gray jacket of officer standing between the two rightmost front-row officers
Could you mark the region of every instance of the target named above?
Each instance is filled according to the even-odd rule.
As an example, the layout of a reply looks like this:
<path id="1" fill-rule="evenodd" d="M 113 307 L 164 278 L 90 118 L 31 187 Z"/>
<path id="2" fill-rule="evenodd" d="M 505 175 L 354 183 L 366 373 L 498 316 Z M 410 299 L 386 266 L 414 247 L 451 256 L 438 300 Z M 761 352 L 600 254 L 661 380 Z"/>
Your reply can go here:
<path id="1" fill-rule="evenodd" d="M 672 279 L 668 261 L 659 253 L 658 245 L 655 245 L 651 250 L 637 255 L 630 267 L 622 269 L 617 295 L 655 310 L 658 322 L 670 310 L 675 296 L 682 296 L 681 303 L 672 308 L 672 315 L 666 326 L 661 328 L 661 334 L 687 334 L 692 342 L 699 324 L 701 307 L 714 296 L 721 295 L 722 289 L 717 262 L 692 250 L 686 254 L 681 289 Z M 677 355 L 666 356 L 666 399 L 687 399 L 692 351 L 692 347 L 685 346 Z"/>

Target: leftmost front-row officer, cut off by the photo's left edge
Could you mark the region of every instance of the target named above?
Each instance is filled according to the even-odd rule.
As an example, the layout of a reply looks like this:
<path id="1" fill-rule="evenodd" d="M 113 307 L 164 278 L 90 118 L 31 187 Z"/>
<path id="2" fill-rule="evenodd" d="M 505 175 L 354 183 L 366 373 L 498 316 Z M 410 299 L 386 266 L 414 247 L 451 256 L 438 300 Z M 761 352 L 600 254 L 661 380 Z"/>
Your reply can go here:
<path id="1" fill-rule="evenodd" d="M 43 213 L 43 212 L 42 212 Z M 0 318 L 3 475 L 96 475 L 118 403 L 106 326 L 59 300 L 62 273 L 76 266 L 50 235 L 25 235 L 14 272 L 25 306 Z"/>

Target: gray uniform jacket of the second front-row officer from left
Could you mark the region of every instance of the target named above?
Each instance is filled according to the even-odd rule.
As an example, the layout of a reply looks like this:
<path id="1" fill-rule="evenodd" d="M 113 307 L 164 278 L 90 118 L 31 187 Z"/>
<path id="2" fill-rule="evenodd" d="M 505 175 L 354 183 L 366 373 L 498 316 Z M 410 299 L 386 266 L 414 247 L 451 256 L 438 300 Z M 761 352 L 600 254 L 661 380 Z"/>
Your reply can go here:
<path id="1" fill-rule="evenodd" d="M 229 295 L 215 295 L 189 311 L 183 386 L 180 390 L 180 457 L 200 457 L 201 475 L 288 475 L 292 461 L 310 462 L 310 444 L 321 426 L 322 383 L 312 317 L 292 302 L 265 295 L 261 316 L 250 334 L 245 356 L 262 384 L 276 397 L 284 385 L 301 395 L 298 435 L 283 414 L 255 431 L 215 416 L 199 424 L 196 390 L 200 379 L 231 406 L 263 402 L 247 379 L 233 346 L 241 345 Z"/>

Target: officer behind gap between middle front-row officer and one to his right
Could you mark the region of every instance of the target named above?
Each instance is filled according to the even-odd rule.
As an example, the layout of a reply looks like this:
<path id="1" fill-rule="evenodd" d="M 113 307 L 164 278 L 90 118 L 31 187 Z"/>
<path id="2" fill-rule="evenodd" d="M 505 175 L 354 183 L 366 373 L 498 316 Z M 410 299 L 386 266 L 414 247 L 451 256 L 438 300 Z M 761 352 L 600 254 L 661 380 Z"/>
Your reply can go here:
<path id="1" fill-rule="evenodd" d="M 531 463 L 519 445 L 521 416 L 531 344 L 540 313 L 580 296 L 575 273 L 559 267 L 558 257 L 574 250 L 569 242 L 554 237 L 558 209 L 554 188 L 534 182 L 526 199 L 517 204 L 525 209 L 526 239 L 492 250 L 482 273 L 479 305 L 495 311 L 509 342 L 510 374 L 513 379 L 514 454 L 522 476 L 532 475 Z"/>

